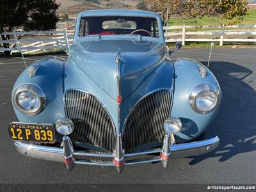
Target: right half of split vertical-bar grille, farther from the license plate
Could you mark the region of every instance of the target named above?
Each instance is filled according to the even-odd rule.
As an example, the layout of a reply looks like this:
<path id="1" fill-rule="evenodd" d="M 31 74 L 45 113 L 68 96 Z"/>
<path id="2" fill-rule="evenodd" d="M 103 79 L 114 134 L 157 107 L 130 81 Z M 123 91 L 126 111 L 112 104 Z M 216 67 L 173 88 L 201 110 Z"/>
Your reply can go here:
<path id="1" fill-rule="evenodd" d="M 124 125 L 125 152 L 163 140 L 163 124 L 170 115 L 171 101 L 170 90 L 157 90 L 143 97 L 134 106 Z"/>

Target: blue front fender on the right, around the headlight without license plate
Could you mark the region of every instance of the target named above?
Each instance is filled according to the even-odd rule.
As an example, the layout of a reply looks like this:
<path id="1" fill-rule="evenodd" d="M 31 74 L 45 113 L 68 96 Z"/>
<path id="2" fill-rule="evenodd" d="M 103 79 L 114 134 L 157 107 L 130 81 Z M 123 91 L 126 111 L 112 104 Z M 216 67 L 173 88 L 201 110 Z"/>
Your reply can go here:
<path id="1" fill-rule="evenodd" d="M 173 60 L 175 68 L 175 91 L 173 97 L 172 116 L 182 120 L 182 129 L 175 134 L 177 141 L 183 143 L 200 136 L 218 113 L 221 102 L 221 90 L 218 81 L 207 68 L 207 76 L 202 77 L 196 66 L 202 65 L 198 61 L 179 58 Z M 220 90 L 220 102 L 214 111 L 207 114 L 196 113 L 189 104 L 191 91 L 199 84 L 209 83 Z"/>

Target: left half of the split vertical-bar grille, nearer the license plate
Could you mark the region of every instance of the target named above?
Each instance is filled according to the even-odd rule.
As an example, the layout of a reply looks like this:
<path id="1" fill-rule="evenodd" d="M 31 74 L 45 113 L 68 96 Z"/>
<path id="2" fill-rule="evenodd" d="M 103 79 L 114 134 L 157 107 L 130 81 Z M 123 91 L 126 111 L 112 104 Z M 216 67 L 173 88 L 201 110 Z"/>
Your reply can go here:
<path id="1" fill-rule="evenodd" d="M 80 90 L 68 90 L 64 100 L 66 116 L 72 120 L 75 126 L 74 131 L 70 134 L 70 139 L 112 152 L 115 129 L 102 104 L 93 95 Z"/>

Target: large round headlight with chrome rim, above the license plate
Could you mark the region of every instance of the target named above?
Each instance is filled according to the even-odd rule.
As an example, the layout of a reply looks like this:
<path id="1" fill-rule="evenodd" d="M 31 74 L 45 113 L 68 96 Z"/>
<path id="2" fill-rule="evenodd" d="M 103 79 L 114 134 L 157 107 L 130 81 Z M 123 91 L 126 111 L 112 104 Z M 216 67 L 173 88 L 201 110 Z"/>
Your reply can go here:
<path id="1" fill-rule="evenodd" d="M 37 115 L 45 108 L 45 94 L 35 84 L 22 84 L 13 92 L 15 108 L 25 115 Z"/>

